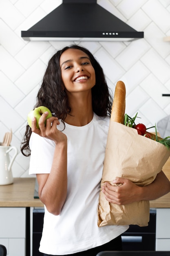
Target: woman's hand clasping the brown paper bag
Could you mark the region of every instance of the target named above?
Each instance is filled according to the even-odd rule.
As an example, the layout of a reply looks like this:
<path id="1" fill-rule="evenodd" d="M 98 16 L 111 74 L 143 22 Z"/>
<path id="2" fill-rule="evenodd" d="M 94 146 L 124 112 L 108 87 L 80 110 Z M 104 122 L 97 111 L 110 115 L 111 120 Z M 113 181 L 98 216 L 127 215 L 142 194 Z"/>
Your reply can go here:
<path id="1" fill-rule="evenodd" d="M 106 200 L 114 204 L 130 204 L 138 201 L 141 193 L 141 187 L 135 185 L 133 182 L 126 178 L 116 178 L 113 180 L 114 184 L 122 184 L 120 186 L 111 185 L 105 182 L 102 187 Z"/>

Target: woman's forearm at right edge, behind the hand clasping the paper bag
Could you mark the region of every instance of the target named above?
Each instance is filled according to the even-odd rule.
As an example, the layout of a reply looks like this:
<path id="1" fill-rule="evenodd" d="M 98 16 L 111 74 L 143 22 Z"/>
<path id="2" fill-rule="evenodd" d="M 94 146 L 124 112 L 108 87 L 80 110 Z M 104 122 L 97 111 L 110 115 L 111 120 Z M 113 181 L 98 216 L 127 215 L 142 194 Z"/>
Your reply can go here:
<path id="1" fill-rule="evenodd" d="M 170 192 L 170 181 L 161 171 L 151 184 L 141 188 L 139 200 L 155 200 L 168 192 Z"/>

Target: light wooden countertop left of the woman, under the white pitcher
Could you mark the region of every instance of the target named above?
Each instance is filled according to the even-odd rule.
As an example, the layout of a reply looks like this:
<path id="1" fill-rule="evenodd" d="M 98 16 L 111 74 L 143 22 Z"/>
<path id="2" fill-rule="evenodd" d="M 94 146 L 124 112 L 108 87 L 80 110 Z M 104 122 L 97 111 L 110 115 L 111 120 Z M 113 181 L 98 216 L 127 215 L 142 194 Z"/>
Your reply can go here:
<path id="1" fill-rule="evenodd" d="M 35 178 L 14 178 L 13 184 L 0 185 L 0 207 L 44 207 L 34 199 Z"/>

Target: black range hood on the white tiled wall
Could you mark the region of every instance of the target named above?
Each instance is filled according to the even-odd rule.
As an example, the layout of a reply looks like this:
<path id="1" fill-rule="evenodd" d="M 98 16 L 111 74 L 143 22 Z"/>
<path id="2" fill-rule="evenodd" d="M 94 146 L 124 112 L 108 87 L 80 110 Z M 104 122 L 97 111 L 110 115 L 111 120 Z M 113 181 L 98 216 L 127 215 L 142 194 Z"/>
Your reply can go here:
<path id="1" fill-rule="evenodd" d="M 86 40 L 131 41 L 144 38 L 112 13 L 97 4 L 97 0 L 63 0 L 27 31 L 24 40 Z"/>

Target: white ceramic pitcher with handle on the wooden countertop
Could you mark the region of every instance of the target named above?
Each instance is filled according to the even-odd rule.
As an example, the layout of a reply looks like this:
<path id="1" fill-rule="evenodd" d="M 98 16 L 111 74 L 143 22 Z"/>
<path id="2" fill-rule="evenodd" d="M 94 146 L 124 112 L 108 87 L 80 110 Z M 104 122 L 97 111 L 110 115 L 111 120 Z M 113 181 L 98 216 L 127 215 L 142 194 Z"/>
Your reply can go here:
<path id="1" fill-rule="evenodd" d="M 9 152 L 14 150 L 15 153 L 13 157 L 9 158 Z M 2 146 L 0 143 L 0 185 L 7 185 L 13 183 L 13 175 L 11 171 L 11 166 L 18 153 L 18 150 L 14 146 Z"/>

